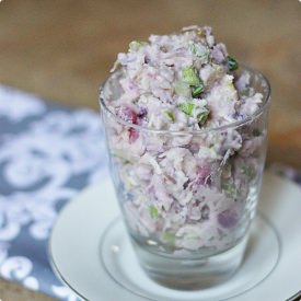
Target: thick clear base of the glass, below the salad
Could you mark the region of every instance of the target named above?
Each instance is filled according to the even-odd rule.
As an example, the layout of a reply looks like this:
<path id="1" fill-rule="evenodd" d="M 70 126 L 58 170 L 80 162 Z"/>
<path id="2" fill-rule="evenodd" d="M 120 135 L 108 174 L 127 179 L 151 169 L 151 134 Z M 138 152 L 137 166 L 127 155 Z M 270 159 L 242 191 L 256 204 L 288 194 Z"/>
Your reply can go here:
<path id="1" fill-rule="evenodd" d="M 155 282 L 180 290 L 198 290 L 230 278 L 240 267 L 247 238 L 234 247 L 201 259 L 182 259 L 150 253 L 132 241 L 139 263 Z"/>

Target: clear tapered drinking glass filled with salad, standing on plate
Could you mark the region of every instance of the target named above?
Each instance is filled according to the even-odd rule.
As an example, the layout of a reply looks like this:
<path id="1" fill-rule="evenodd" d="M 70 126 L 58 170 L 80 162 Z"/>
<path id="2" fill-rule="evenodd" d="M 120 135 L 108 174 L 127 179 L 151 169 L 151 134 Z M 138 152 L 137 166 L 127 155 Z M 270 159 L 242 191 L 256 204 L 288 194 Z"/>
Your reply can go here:
<path id="1" fill-rule="evenodd" d="M 263 177 L 270 88 L 255 70 L 239 72 L 248 72 L 248 89 L 264 95 L 261 108 L 197 131 L 148 129 L 117 117 L 109 101 L 121 93 L 118 71 L 101 88 L 123 218 L 140 266 L 164 286 L 211 287 L 242 263 Z"/>

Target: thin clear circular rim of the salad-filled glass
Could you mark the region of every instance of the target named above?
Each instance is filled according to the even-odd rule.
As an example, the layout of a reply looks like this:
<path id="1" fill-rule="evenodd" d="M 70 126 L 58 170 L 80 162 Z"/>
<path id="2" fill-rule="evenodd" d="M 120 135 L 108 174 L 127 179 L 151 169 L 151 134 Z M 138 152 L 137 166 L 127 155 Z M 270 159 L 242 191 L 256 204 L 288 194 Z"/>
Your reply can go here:
<path id="1" fill-rule="evenodd" d="M 119 124 L 123 124 L 125 125 L 126 127 L 129 127 L 129 128 L 134 128 L 134 129 L 137 129 L 139 131 L 148 131 L 148 132 L 153 132 L 153 134 L 169 134 L 169 135 L 202 135 L 202 134 L 208 134 L 208 132 L 213 132 L 213 131 L 220 131 L 220 130 L 224 130 L 224 129 L 228 129 L 228 128 L 238 128 L 240 126 L 244 126 L 246 125 L 247 123 L 256 119 L 258 116 L 261 116 L 265 109 L 265 107 L 267 106 L 267 104 L 269 104 L 269 101 L 270 101 L 270 94 L 271 94 L 271 91 L 270 91 L 270 83 L 268 81 L 268 79 L 262 73 L 259 72 L 258 70 L 256 69 L 253 69 L 253 68 L 250 68 L 250 67 L 246 67 L 244 65 L 240 65 L 240 69 L 244 69 L 244 70 L 247 70 L 254 74 L 257 74 L 261 77 L 261 80 L 263 82 L 265 82 L 266 84 L 266 89 L 267 89 L 267 93 L 264 97 L 264 101 L 263 101 L 263 104 L 262 106 L 256 109 L 251 116 L 247 116 L 245 118 L 243 118 L 242 120 L 238 120 L 238 121 L 234 121 L 234 123 L 230 123 L 230 124 L 227 124 L 227 125 L 223 125 L 223 126 L 218 126 L 218 127 L 212 127 L 212 128 L 205 128 L 205 129 L 184 129 L 184 130 L 169 130 L 169 129 L 154 129 L 154 128 L 148 128 L 148 127 L 143 127 L 143 126 L 139 126 L 139 125 L 135 125 L 135 124 L 131 124 L 131 123 L 128 123 L 128 121 L 125 121 L 124 119 L 121 119 L 120 117 L 118 117 L 116 114 L 114 114 L 109 108 L 108 106 L 106 105 L 105 103 L 105 100 L 104 100 L 104 96 L 103 96 L 103 91 L 104 91 L 104 86 L 106 85 L 106 83 L 108 82 L 109 79 L 112 79 L 116 73 L 118 73 L 118 71 L 115 71 L 113 72 L 102 84 L 101 84 L 101 88 L 100 88 L 100 103 L 101 103 L 101 109 L 105 109 L 114 119 L 116 119 Z M 102 114 L 102 112 L 101 112 Z"/>

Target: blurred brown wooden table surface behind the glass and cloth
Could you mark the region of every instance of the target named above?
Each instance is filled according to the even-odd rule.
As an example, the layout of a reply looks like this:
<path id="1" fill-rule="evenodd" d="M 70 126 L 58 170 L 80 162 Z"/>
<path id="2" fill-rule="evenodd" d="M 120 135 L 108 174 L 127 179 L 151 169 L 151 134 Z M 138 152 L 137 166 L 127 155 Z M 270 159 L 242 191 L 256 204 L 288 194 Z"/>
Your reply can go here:
<path id="1" fill-rule="evenodd" d="M 0 0 L 0 82 L 97 109 L 118 51 L 150 33 L 209 24 L 273 88 L 268 162 L 301 169 L 299 0 Z M 3 289 L 4 288 L 4 289 Z M 0 280 L 0 299 L 50 300 Z"/>

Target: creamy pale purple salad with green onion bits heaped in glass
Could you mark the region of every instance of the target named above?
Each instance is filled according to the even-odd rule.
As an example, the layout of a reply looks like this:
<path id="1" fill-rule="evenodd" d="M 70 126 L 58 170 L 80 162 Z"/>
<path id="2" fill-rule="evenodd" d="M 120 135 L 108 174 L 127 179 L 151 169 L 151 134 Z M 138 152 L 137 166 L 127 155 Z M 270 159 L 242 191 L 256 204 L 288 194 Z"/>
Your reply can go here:
<path id="1" fill-rule="evenodd" d="M 208 26 L 134 40 L 119 54 L 103 99 L 113 177 L 132 235 L 161 251 L 216 250 L 245 233 L 265 132 L 247 71 Z M 250 213 L 248 213 L 250 212 Z M 250 216 L 248 216 L 250 215 Z"/>

